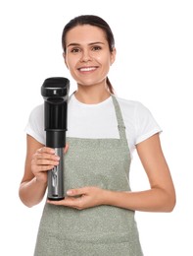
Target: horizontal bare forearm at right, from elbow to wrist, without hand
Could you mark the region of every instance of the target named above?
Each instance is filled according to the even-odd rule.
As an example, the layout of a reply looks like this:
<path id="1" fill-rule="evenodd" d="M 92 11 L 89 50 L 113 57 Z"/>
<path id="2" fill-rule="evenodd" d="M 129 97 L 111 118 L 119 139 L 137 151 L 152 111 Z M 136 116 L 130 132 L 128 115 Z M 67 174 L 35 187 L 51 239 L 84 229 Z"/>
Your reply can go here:
<path id="1" fill-rule="evenodd" d="M 104 204 L 143 212 L 171 212 L 174 195 L 160 188 L 141 192 L 105 191 Z"/>

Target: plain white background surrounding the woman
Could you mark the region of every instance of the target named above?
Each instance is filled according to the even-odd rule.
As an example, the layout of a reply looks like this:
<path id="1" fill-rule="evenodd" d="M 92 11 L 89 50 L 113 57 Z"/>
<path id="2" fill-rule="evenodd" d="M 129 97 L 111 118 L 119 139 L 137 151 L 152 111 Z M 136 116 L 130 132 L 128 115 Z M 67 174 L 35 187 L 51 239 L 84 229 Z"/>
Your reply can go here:
<path id="1" fill-rule="evenodd" d="M 18 196 L 24 127 L 31 109 L 43 102 L 44 79 L 71 79 L 62 58 L 61 34 L 80 14 L 96 14 L 110 24 L 118 56 L 109 77 L 117 95 L 144 103 L 164 130 L 161 139 L 177 204 L 169 214 L 136 213 L 144 255 L 193 255 L 193 7 L 187 0 L 1 1 L 0 255 L 33 254 L 44 202 L 28 209 Z M 148 187 L 137 155 L 131 184 L 135 190 Z"/>

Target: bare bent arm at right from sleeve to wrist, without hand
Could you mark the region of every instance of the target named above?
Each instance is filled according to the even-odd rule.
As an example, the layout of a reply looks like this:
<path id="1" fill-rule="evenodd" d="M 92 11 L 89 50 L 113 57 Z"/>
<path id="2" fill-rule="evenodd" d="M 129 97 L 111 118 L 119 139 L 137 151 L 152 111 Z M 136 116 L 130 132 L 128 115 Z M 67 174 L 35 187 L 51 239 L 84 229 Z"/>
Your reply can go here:
<path id="1" fill-rule="evenodd" d="M 110 204 L 137 211 L 171 212 L 175 205 L 175 191 L 159 135 L 150 137 L 136 148 L 147 173 L 150 189 L 141 192 L 116 192 L 113 197 L 108 197 Z"/>

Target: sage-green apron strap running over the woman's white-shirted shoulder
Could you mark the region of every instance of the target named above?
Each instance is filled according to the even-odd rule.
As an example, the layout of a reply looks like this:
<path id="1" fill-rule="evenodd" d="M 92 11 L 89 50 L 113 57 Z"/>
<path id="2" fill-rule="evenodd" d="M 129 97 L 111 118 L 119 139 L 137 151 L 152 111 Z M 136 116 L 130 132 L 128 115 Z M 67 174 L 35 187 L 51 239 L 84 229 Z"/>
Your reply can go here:
<path id="1" fill-rule="evenodd" d="M 117 120 L 118 120 L 118 130 L 119 130 L 119 133 L 120 133 L 120 138 L 121 138 L 122 141 L 125 141 L 126 144 L 127 144 L 125 126 L 124 126 L 124 122 L 123 122 L 123 118 L 122 118 L 122 114 L 121 114 L 120 104 L 119 104 L 116 96 L 112 95 L 112 98 L 113 98 L 113 103 L 114 103 L 115 110 L 116 110 L 116 116 L 117 116 Z"/>

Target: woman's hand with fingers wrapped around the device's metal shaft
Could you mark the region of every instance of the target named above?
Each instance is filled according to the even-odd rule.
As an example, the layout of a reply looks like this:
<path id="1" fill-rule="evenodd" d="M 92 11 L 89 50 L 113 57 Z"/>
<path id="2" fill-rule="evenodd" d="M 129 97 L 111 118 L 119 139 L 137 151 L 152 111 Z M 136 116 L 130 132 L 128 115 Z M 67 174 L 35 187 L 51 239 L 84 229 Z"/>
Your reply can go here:
<path id="1" fill-rule="evenodd" d="M 46 183 L 47 171 L 59 164 L 60 157 L 56 156 L 55 150 L 42 147 L 32 156 L 31 171 L 36 181 Z"/>

